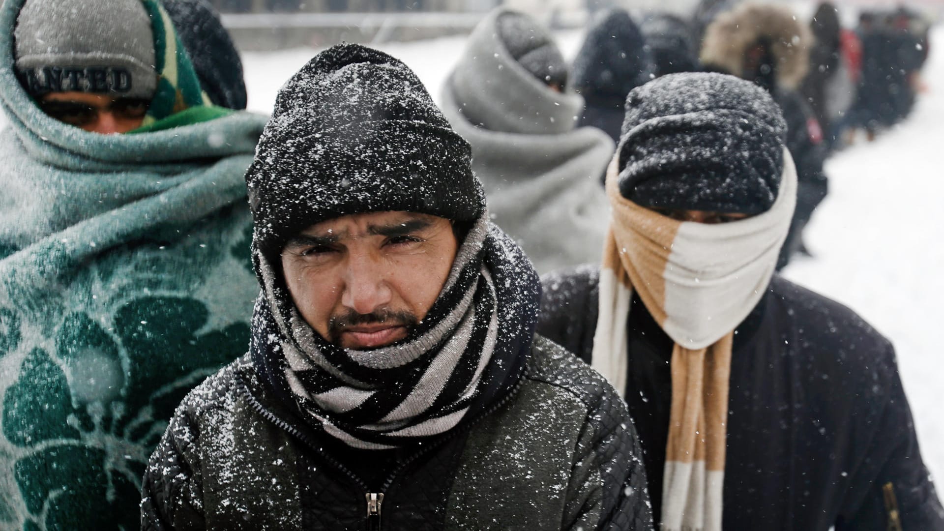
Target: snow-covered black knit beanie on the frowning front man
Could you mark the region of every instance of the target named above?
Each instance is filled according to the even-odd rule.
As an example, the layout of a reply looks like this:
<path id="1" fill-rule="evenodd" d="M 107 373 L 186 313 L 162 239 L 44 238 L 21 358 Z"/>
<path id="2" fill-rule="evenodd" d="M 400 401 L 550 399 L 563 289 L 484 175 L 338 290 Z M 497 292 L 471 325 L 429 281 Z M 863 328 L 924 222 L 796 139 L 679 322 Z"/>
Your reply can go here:
<path id="1" fill-rule="evenodd" d="M 316 55 L 278 91 L 246 173 L 254 243 L 346 214 L 471 222 L 485 208 L 471 149 L 401 61 L 358 44 Z"/>

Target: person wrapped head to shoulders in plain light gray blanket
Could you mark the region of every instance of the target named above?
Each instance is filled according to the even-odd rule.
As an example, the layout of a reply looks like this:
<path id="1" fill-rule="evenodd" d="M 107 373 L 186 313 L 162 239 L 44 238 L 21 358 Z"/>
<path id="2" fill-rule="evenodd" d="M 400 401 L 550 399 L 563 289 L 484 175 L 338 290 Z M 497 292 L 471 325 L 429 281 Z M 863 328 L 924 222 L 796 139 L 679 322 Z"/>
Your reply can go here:
<path id="1" fill-rule="evenodd" d="M 539 273 L 599 257 L 606 197 L 598 179 L 613 143 L 574 128 L 580 95 L 548 32 L 496 9 L 469 36 L 443 88 L 443 112 L 472 145 L 493 220 Z"/>

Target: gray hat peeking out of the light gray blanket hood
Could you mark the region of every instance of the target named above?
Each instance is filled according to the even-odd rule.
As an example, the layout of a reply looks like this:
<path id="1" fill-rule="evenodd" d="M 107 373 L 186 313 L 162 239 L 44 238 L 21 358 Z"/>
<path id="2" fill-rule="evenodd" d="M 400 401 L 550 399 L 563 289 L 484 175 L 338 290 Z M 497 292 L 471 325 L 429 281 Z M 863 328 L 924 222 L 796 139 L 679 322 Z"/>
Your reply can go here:
<path id="1" fill-rule="evenodd" d="M 498 37 L 518 64 L 548 85 L 566 86 L 567 63 L 548 30 L 515 11 L 501 13 L 496 26 Z"/>

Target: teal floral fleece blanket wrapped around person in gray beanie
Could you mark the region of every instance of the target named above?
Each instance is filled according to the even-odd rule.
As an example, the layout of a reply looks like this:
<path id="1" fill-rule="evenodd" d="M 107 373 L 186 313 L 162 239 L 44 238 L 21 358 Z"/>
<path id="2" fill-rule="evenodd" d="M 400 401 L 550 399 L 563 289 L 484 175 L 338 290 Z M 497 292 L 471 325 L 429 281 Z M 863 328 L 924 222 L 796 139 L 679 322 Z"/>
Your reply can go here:
<path id="1" fill-rule="evenodd" d="M 245 350 L 245 168 L 265 119 L 135 135 L 46 116 L 0 10 L 0 528 L 138 528 L 179 400 Z"/>

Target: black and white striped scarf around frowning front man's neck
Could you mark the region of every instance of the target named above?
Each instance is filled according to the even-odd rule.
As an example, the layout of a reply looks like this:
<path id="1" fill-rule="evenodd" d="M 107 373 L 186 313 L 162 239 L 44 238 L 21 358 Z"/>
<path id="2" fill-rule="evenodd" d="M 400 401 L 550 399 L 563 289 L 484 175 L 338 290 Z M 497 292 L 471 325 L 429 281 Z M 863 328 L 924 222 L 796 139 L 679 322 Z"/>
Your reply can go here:
<path id="1" fill-rule="evenodd" d="M 255 255 L 264 283 L 253 318 L 257 367 L 312 426 L 348 446 L 390 449 L 443 434 L 520 379 L 540 282 L 487 213 L 459 248 L 427 316 L 405 340 L 372 351 L 347 350 L 315 333 Z"/>

